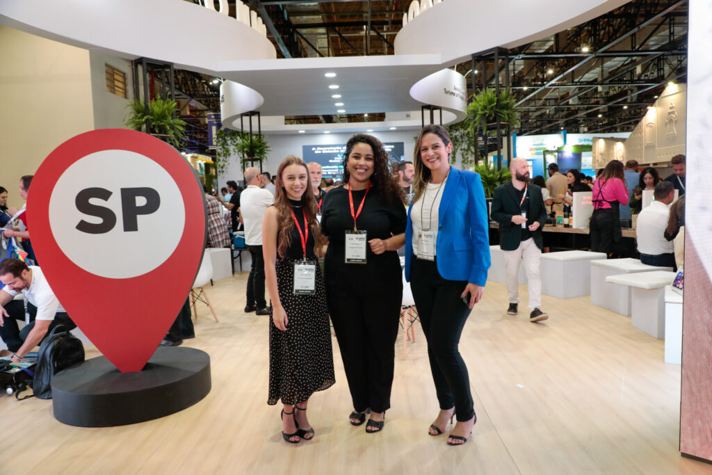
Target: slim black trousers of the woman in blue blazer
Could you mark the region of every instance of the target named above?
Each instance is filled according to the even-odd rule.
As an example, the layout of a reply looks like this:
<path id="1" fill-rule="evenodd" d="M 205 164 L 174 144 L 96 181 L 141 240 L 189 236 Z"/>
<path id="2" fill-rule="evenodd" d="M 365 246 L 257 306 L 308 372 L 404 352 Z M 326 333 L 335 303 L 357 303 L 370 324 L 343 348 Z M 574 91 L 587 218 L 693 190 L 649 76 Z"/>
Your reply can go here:
<path id="1" fill-rule="evenodd" d="M 448 281 L 436 261 L 413 259 L 410 286 L 428 341 L 430 370 L 440 409 L 455 407 L 457 420 L 475 415 L 470 378 L 458 349 L 470 309 L 461 299 L 466 281 Z"/>

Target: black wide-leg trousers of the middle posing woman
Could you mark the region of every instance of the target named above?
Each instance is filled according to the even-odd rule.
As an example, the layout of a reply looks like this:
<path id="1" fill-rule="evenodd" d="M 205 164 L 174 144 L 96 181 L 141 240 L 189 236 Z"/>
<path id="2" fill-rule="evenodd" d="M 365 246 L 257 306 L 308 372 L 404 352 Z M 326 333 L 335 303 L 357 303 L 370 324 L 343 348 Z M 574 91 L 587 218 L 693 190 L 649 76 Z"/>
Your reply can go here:
<path id="1" fill-rule="evenodd" d="M 358 265 L 358 264 L 352 264 Z M 329 313 L 339 342 L 354 409 L 384 412 L 391 407 L 395 343 L 402 281 L 341 286 L 328 276 Z M 336 285 L 335 285 L 336 284 Z"/>

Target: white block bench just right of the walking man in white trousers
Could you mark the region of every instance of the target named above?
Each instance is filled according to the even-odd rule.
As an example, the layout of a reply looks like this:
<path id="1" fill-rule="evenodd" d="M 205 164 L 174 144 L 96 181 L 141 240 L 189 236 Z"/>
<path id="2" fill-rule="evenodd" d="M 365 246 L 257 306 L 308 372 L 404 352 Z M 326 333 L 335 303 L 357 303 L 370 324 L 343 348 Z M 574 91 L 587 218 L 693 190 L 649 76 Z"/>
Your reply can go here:
<path id="1" fill-rule="evenodd" d="M 602 252 L 560 251 L 541 255 L 541 293 L 558 298 L 591 293 L 591 261 L 606 259 Z"/>

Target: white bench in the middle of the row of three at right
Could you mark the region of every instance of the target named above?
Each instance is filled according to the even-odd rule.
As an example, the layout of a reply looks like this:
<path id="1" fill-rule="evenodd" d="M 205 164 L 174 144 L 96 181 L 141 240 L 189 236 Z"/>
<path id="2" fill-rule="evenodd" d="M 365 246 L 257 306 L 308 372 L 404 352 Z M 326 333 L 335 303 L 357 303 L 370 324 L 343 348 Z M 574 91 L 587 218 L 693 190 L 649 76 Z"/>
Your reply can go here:
<path id="1" fill-rule="evenodd" d="M 671 267 L 648 266 L 638 259 L 591 261 L 591 303 L 621 315 L 630 316 L 630 287 L 607 283 L 608 276 L 622 273 L 672 271 Z"/>

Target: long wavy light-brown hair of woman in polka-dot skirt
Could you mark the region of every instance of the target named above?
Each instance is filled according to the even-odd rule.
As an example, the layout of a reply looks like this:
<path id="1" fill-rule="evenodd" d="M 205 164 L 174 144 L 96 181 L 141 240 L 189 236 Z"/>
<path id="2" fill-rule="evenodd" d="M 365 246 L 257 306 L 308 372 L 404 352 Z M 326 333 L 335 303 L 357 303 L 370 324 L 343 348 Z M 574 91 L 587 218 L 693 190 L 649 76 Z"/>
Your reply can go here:
<path id="1" fill-rule="evenodd" d="M 289 202 L 289 197 L 286 190 L 284 189 L 284 183 L 282 180 L 282 172 L 284 169 L 290 165 L 300 165 L 304 167 L 304 172 L 307 174 L 307 184 L 302 194 L 302 209 L 306 213 L 307 222 L 309 224 L 309 233 L 314 236 L 315 246 L 322 246 L 325 243 L 324 236 L 321 234 L 320 226 L 316 220 L 316 213 L 318 206 L 316 204 L 316 199 L 314 199 L 314 194 L 311 192 L 311 182 L 309 181 L 309 169 L 304 160 L 296 157 L 295 155 L 288 155 L 277 169 L 277 183 L 274 192 L 274 206 L 279 212 L 277 218 L 277 224 L 279 226 L 278 234 L 278 246 L 277 254 L 281 259 L 287 254 L 287 249 L 289 249 L 290 244 L 292 244 L 292 229 L 294 229 L 294 219 L 292 219 L 292 214 L 289 210 L 292 208 L 292 204 Z"/>

